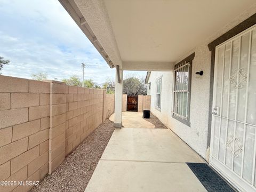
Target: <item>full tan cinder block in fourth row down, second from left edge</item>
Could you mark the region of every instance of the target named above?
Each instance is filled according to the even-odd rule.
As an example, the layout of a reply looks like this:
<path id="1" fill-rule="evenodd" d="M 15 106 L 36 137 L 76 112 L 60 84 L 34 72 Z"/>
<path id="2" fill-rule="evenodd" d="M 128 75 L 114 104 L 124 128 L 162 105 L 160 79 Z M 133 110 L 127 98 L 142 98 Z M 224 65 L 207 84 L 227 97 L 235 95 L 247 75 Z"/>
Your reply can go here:
<path id="1" fill-rule="evenodd" d="M 12 141 L 17 141 L 21 138 L 28 137 L 31 134 L 40 131 L 40 119 L 35 121 L 22 123 L 13 126 Z"/>

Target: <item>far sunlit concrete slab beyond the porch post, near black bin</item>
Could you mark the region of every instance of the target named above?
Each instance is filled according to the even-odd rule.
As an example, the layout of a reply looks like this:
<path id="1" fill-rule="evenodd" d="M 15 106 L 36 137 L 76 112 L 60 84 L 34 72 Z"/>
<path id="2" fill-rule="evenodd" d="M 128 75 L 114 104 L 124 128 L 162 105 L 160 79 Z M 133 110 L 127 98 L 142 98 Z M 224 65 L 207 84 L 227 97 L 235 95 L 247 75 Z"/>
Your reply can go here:
<path id="1" fill-rule="evenodd" d="M 142 118 L 142 112 L 125 111 L 122 112 L 122 124 L 126 128 L 155 128 L 155 125 Z M 109 117 L 111 122 L 115 120 L 115 114 Z"/>

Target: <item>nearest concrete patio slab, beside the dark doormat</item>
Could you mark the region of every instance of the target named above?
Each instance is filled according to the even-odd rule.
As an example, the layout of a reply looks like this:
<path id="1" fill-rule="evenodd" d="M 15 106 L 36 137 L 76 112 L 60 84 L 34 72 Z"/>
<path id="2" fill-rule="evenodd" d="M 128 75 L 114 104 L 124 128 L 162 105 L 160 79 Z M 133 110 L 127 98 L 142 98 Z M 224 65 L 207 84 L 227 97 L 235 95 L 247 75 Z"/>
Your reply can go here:
<path id="1" fill-rule="evenodd" d="M 100 161 L 85 192 L 206 191 L 183 163 Z"/>

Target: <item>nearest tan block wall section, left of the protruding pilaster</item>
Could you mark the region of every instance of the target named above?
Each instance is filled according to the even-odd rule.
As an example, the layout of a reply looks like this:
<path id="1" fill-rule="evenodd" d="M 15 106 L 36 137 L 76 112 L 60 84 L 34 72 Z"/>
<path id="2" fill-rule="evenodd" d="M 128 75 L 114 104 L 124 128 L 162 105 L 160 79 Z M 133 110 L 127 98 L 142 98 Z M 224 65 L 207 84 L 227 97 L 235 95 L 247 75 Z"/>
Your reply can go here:
<path id="1" fill-rule="evenodd" d="M 39 181 L 49 170 L 50 84 L 0 75 L 0 181 Z M 28 191 L 33 186 L 0 186 Z"/>

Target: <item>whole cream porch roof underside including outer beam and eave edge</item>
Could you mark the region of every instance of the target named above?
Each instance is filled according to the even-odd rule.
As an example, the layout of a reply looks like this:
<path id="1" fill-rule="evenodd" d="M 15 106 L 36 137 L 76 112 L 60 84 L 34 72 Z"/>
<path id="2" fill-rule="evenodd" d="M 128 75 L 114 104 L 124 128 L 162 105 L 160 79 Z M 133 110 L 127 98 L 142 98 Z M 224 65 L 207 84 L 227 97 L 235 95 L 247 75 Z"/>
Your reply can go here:
<path id="1" fill-rule="evenodd" d="M 172 70 L 174 63 L 255 0 L 59 0 L 110 67 Z"/>

